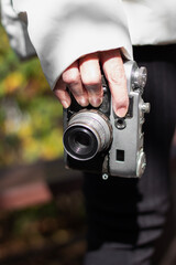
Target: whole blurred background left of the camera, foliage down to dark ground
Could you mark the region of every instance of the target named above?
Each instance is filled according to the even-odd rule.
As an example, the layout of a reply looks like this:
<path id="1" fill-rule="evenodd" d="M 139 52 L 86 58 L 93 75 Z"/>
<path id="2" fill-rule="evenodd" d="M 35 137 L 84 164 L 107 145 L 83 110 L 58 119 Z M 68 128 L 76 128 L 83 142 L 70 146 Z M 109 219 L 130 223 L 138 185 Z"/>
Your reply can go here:
<path id="1" fill-rule="evenodd" d="M 0 25 L 0 264 L 81 263 L 81 178 L 63 166 L 62 115 L 38 60 L 19 61 Z"/>

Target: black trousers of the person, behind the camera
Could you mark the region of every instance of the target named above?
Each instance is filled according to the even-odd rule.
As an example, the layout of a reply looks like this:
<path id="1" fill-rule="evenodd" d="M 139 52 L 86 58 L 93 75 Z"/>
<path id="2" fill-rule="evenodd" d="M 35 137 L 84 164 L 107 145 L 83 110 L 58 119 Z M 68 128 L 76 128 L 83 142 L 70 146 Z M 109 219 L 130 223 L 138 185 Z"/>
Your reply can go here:
<path id="1" fill-rule="evenodd" d="M 169 205 L 169 148 L 176 123 L 176 45 L 134 47 L 147 67 L 144 100 L 147 167 L 139 179 L 85 176 L 85 265 L 148 265 Z"/>

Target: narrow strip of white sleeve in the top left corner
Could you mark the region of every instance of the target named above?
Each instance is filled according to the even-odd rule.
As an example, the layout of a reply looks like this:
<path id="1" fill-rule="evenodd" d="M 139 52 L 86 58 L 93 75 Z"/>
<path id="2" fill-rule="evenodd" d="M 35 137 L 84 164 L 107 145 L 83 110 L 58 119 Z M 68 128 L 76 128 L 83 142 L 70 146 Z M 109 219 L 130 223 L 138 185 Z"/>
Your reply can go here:
<path id="1" fill-rule="evenodd" d="M 8 33 L 11 47 L 21 59 L 31 57 L 35 54 L 26 24 L 14 12 L 11 0 L 1 0 L 1 22 Z"/>

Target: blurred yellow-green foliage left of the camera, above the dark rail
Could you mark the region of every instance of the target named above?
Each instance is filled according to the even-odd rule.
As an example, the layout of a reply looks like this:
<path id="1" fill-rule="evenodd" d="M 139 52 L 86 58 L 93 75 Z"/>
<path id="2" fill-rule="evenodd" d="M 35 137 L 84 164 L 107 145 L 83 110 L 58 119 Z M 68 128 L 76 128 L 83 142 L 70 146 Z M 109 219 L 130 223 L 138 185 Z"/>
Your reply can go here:
<path id="1" fill-rule="evenodd" d="M 62 105 L 38 60 L 21 62 L 0 26 L 0 167 L 63 155 Z"/>

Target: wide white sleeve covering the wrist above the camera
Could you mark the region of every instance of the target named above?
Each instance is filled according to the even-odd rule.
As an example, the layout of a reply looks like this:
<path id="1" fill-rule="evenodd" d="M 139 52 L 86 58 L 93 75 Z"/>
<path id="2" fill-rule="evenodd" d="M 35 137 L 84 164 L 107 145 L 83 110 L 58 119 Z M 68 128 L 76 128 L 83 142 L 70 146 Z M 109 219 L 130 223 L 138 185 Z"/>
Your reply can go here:
<path id="1" fill-rule="evenodd" d="M 53 88 L 78 57 L 121 47 L 132 59 L 128 22 L 121 0 L 12 0 L 26 12 L 30 39 Z"/>

